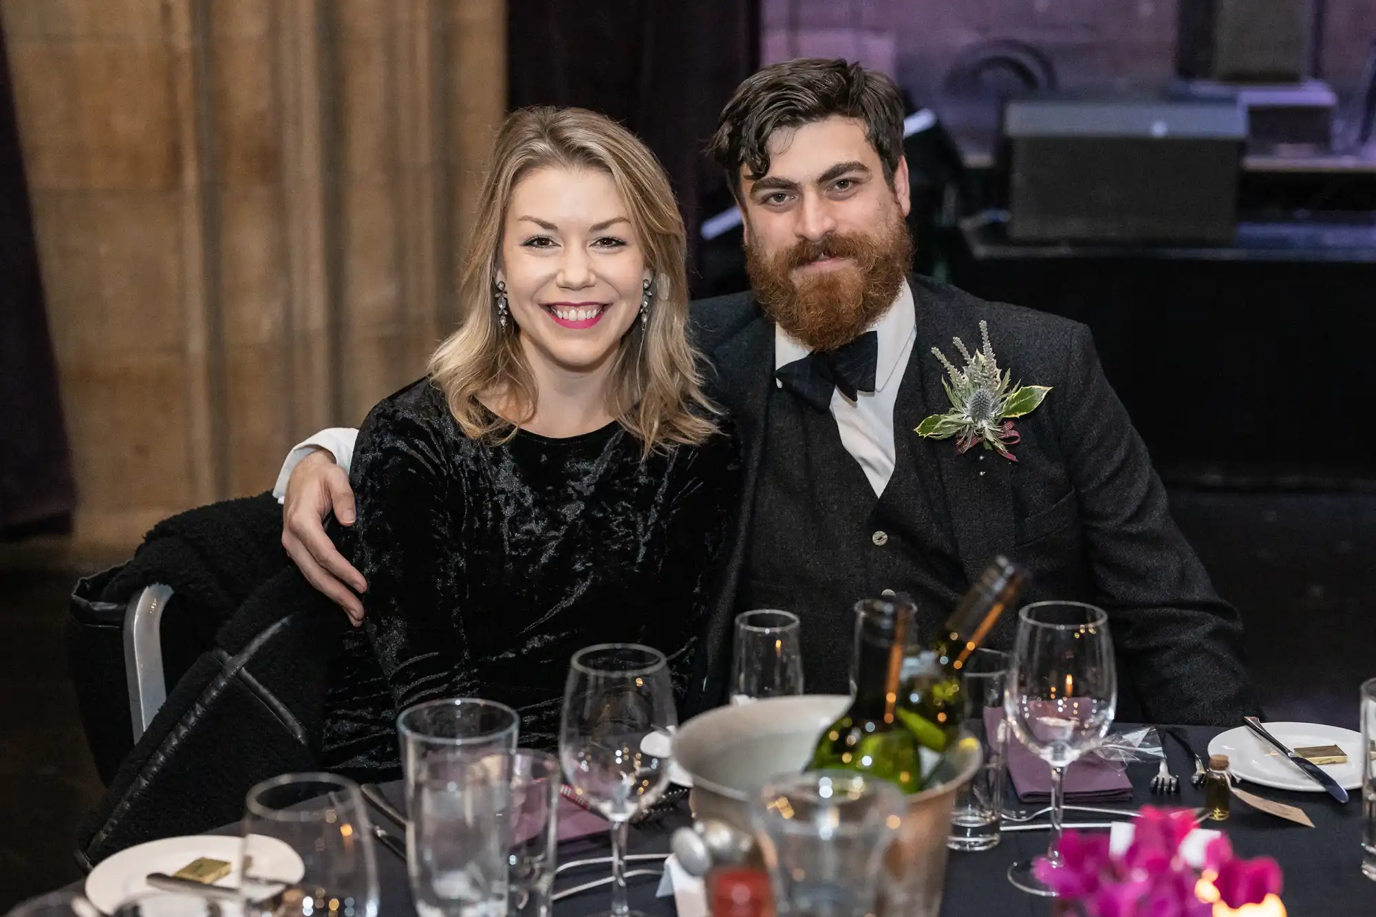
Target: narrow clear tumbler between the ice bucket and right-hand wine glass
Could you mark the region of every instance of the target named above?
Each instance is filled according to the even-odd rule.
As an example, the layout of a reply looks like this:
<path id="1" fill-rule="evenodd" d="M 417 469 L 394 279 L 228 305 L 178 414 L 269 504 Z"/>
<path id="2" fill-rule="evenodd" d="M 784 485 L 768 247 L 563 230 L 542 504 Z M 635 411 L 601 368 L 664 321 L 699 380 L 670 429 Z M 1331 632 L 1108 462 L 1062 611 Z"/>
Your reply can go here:
<path id="1" fill-rule="evenodd" d="M 1009 654 L 978 649 L 960 676 L 963 728 L 984 750 L 984 763 L 969 783 L 956 790 L 951 810 L 951 850 L 980 851 L 999 845 L 1003 821 L 1003 786 L 1007 777 L 1007 724 L 1003 719 L 1003 686 Z M 991 712 L 992 716 L 987 716 Z"/>

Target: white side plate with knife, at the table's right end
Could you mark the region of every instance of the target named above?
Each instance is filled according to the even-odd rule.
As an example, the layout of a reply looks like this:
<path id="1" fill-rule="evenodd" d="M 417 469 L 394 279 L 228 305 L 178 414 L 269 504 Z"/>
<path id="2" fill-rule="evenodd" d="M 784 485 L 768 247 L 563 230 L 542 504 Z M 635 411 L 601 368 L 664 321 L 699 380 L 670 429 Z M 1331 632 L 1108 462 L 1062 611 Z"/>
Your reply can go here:
<path id="1" fill-rule="evenodd" d="M 1343 789 L 1358 789 L 1362 785 L 1359 734 L 1320 723 L 1262 723 L 1262 726 L 1287 748 L 1336 745 L 1347 753 L 1347 763 L 1320 764 L 1320 767 Z M 1271 748 L 1266 739 L 1252 735 L 1245 726 L 1215 735 L 1208 744 L 1208 753 L 1227 755 L 1227 766 L 1244 781 L 1300 793 L 1324 792 L 1324 788 L 1306 777 L 1293 761 Z"/>

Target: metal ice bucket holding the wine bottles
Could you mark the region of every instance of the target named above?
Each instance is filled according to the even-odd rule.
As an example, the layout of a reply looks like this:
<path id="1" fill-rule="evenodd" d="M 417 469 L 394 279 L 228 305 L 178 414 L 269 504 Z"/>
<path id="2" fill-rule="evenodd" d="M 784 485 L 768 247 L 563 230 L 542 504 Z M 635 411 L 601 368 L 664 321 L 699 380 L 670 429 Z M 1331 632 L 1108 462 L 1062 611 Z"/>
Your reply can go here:
<path id="1" fill-rule="evenodd" d="M 713 825 L 718 834 L 729 826 L 746 859 L 758 862 L 750 800 L 769 778 L 801 771 L 817 735 L 849 704 L 849 697 L 832 694 L 779 697 L 717 708 L 684 723 L 674 735 L 674 761 L 692 778 L 688 801 L 694 819 Z M 941 910 L 951 805 L 980 763 L 980 744 L 962 737 L 937 771 L 941 783 L 908 797 L 903 825 L 885 858 L 881 917 L 936 917 Z"/>

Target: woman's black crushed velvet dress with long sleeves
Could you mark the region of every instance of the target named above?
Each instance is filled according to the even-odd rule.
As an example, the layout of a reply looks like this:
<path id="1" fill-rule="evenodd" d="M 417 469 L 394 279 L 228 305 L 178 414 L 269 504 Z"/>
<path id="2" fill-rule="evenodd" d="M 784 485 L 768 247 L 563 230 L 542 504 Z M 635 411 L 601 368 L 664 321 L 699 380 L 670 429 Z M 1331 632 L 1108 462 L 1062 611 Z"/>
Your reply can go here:
<path id="1" fill-rule="evenodd" d="M 523 746 L 553 748 L 593 643 L 660 650 L 682 698 L 739 505 L 733 436 L 644 460 L 615 423 L 482 443 L 422 380 L 369 413 L 351 476 L 366 622 L 332 677 L 326 767 L 399 775 L 396 710 L 444 697 L 508 704 Z"/>

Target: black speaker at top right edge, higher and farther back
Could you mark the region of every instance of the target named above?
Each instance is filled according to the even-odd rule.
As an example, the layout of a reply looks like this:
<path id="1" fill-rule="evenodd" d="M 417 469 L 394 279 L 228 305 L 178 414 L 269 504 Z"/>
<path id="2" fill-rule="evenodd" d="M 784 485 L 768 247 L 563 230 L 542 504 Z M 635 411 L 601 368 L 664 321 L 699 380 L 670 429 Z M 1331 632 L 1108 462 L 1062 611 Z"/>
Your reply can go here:
<path id="1" fill-rule="evenodd" d="M 1193 80 L 1298 83 L 1309 72 L 1313 0 L 1179 0 L 1175 70 Z"/>

